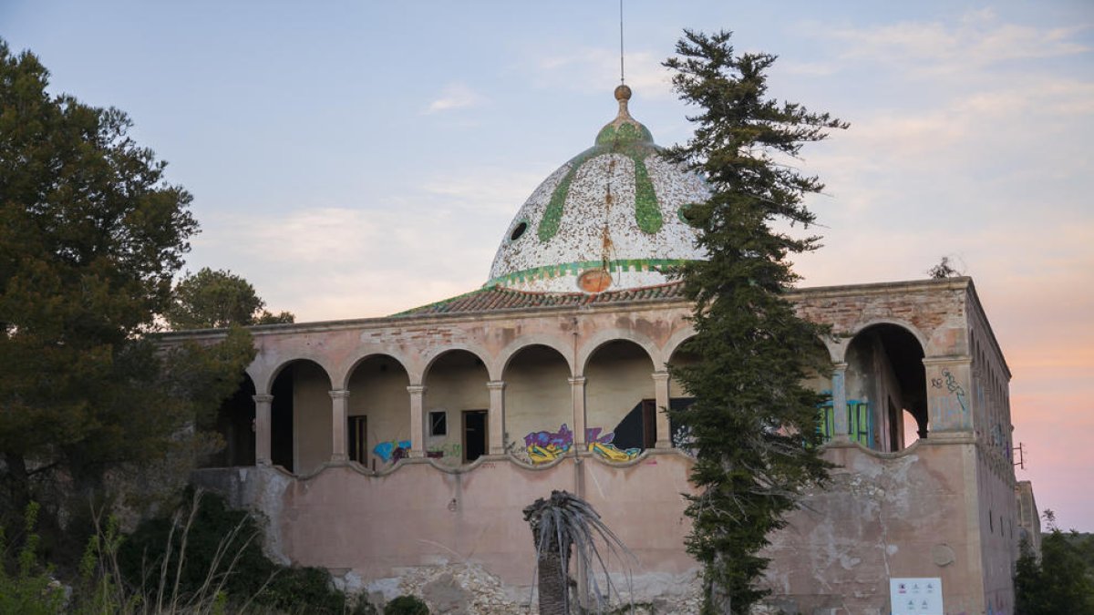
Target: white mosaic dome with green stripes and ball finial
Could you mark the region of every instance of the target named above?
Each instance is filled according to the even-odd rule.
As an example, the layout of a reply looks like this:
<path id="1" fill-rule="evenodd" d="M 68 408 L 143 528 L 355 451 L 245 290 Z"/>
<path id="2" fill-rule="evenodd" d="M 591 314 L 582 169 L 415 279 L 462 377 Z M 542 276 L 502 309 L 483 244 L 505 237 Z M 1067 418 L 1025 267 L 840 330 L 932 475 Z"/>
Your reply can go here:
<path id="1" fill-rule="evenodd" d="M 592 148 L 551 173 L 505 230 L 486 286 L 540 292 L 603 292 L 665 283 L 665 269 L 703 257 L 684 210 L 702 202 L 702 178 L 663 160 L 630 116 L 619 114 Z"/>

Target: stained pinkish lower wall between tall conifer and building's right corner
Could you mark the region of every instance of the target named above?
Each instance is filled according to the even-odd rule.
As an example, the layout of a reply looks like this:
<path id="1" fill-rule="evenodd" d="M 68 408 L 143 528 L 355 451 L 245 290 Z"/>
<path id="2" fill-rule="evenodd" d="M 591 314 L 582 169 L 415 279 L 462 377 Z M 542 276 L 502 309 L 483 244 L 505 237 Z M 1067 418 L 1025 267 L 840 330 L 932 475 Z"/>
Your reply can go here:
<path id="1" fill-rule="evenodd" d="M 889 577 L 941 577 L 947 613 L 984 613 L 970 444 L 919 441 L 897 454 L 830 448 L 838 464 L 772 536 L 766 579 L 791 613 L 888 613 Z M 975 520 L 975 514 L 973 515 Z"/>

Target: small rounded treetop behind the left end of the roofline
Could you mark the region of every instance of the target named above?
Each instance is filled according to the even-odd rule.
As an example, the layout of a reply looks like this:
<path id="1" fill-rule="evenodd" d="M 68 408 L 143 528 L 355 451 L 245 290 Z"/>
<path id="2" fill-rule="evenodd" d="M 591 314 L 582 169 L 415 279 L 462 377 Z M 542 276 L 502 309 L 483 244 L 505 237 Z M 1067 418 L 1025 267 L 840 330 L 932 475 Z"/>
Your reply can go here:
<path id="1" fill-rule="evenodd" d="M 187 274 L 175 286 L 174 301 L 164 313 L 171 328 L 223 328 L 233 325 L 291 323 L 290 312 L 272 314 L 251 282 L 235 274 L 209 267 Z"/>

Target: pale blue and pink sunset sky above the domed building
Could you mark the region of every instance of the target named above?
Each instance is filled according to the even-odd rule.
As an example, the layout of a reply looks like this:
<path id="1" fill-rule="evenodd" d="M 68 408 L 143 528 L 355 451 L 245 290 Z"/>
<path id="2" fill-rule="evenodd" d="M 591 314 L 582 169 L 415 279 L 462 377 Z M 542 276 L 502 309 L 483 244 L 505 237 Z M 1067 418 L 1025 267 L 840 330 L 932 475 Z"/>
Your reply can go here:
<path id="1" fill-rule="evenodd" d="M 1094 3 L 656 2 L 624 8 L 631 113 L 689 109 L 684 28 L 779 56 L 770 94 L 851 127 L 801 169 L 825 237 L 802 286 L 974 278 L 1008 364 L 1019 479 L 1094 532 Z M 474 290 L 524 200 L 616 112 L 619 4 L 0 0 L 51 91 L 115 106 L 194 195 L 188 268 L 298 321 Z"/>

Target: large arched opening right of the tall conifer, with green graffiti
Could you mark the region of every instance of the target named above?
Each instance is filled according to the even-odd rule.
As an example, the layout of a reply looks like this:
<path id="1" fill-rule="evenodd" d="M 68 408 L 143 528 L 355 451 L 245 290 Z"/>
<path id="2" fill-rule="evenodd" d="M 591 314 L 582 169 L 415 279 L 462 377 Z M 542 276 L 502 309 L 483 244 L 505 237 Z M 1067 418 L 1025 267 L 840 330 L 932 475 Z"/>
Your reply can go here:
<path id="1" fill-rule="evenodd" d="M 847 343 L 849 432 L 860 444 L 896 452 L 905 445 L 905 413 L 920 438 L 928 431 L 924 340 L 915 327 L 878 320 L 858 327 Z"/>

